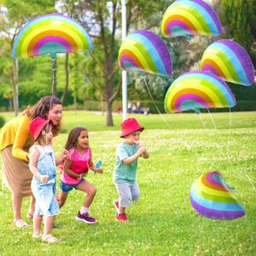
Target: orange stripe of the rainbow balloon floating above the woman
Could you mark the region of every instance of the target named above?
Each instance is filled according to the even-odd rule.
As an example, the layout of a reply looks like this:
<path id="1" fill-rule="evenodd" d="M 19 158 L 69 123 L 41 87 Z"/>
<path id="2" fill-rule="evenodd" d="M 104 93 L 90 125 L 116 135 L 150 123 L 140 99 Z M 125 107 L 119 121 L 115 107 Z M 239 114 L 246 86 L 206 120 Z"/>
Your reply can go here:
<path id="1" fill-rule="evenodd" d="M 38 35 L 36 35 L 34 38 L 32 38 L 32 40 L 29 42 L 27 46 L 27 55 L 28 56 L 33 55 L 32 50 L 34 49 L 35 44 L 37 44 L 40 39 L 53 36 L 53 35 L 67 40 L 71 45 L 73 52 L 77 52 L 79 50 L 75 40 L 71 36 L 69 36 L 67 33 L 56 31 L 56 30 L 49 30 L 49 31 L 41 32 Z"/>

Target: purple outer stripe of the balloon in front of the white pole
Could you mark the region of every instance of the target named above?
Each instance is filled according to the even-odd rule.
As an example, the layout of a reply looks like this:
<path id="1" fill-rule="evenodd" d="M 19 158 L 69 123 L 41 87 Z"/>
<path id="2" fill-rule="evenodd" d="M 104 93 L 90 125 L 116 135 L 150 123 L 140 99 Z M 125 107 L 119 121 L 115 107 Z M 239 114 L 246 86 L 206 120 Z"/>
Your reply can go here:
<path id="1" fill-rule="evenodd" d="M 166 73 L 171 74 L 172 73 L 172 58 L 171 58 L 168 48 L 166 47 L 166 44 L 162 41 L 162 39 L 159 38 L 157 35 L 155 35 L 154 32 L 150 32 L 147 30 L 137 30 L 134 33 L 141 34 L 145 38 L 148 38 L 148 40 L 151 42 L 151 44 L 153 44 L 155 49 L 158 51 L 158 53 L 160 55 L 160 59 L 161 59 L 161 61 L 163 61 L 163 64 L 166 68 Z"/>

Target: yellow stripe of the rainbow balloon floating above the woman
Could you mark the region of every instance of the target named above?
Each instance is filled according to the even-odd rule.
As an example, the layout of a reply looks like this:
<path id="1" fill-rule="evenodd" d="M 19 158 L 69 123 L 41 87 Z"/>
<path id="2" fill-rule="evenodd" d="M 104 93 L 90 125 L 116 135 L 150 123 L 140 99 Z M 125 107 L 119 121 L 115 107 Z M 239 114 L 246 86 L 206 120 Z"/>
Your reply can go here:
<path id="1" fill-rule="evenodd" d="M 76 31 L 68 28 L 67 26 L 59 27 L 59 26 L 49 25 L 49 26 L 39 26 L 38 28 L 33 29 L 32 32 L 30 32 L 26 36 L 26 38 L 24 38 L 20 52 L 21 53 L 26 52 L 28 44 L 31 42 L 32 38 L 34 38 L 35 36 L 38 35 L 38 33 L 45 32 L 45 31 L 50 31 L 50 30 L 66 32 L 68 35 L 70 35 L 74 39 L 74 41 L 76 42 L 78 47 L 82 47 L 82 48 L 84 47 L 84 43 L 81 40 L 81 38 L 79 38 Z M 52 36 L 52 35 L 49 35 L 49 36 Z"/>

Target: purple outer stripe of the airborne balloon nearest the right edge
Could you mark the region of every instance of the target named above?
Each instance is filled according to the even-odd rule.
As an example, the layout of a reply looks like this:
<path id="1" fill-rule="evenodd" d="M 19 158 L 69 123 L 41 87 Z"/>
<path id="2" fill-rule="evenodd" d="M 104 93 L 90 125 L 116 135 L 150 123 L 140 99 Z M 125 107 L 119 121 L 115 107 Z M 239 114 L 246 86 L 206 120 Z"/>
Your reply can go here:
<path id="1" fill-rule="evenodd" d="M 254 82 L 253 62 L 251 61 L 250 57 L 247 55 L 247 51 L 243 49 L 240 44 L 237 44 L 236 42 L 230 39 L 218 40 L 215 43 L 224 44 L 234 52 L 238 60 L 241 62 L 241 67 L 244 68 L 244 71 L 247 75 L 247 79 L 249 83 L 253 84 Z"/>

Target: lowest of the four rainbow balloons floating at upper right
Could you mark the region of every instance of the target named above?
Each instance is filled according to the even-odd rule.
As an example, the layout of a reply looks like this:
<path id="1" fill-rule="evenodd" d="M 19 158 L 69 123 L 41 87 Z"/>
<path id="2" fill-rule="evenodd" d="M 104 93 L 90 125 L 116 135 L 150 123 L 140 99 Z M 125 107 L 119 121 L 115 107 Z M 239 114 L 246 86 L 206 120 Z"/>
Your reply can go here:
<path id="1" fill-rule="evenodd" d="M 236 105 L 229 86 L 208 72 L 184 73 L 166 92 L 166 112 L 183 112 L 199 108 L 231 108 Z"/>

